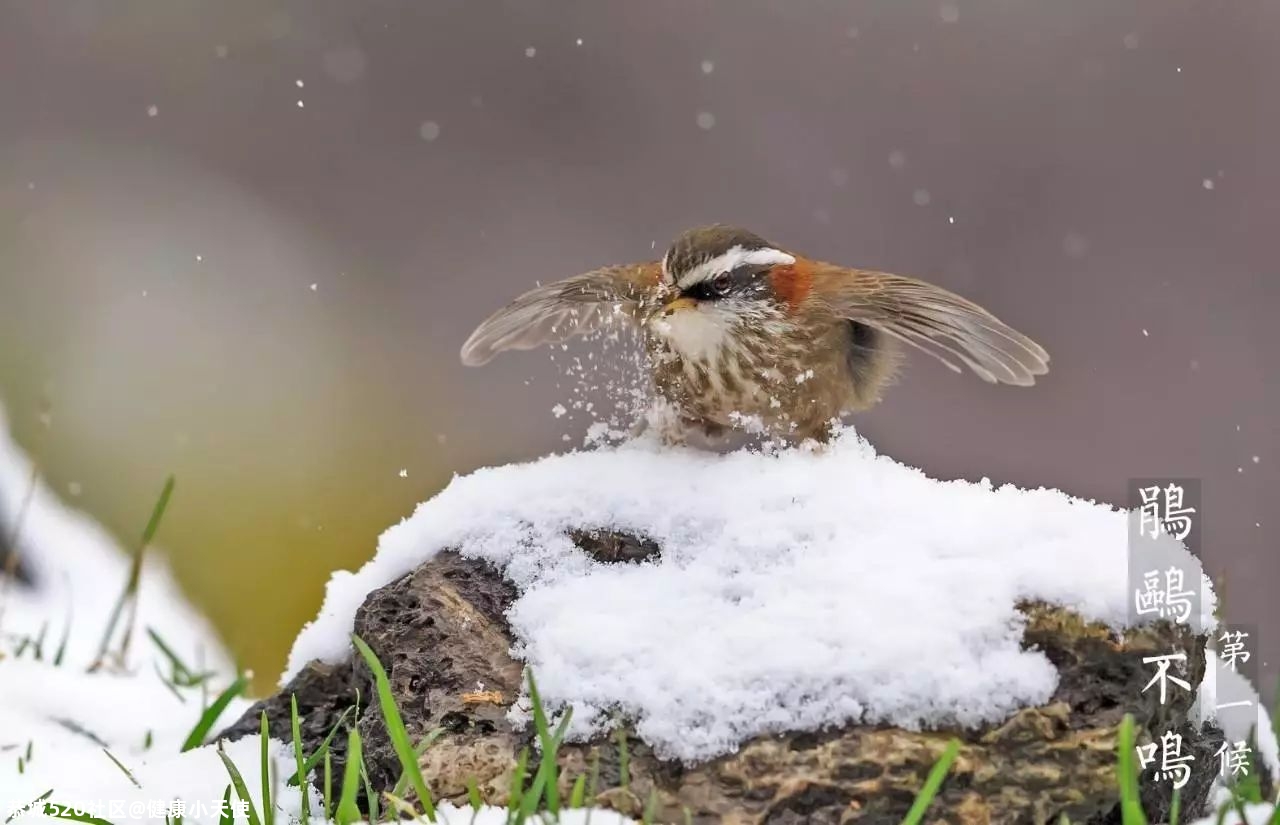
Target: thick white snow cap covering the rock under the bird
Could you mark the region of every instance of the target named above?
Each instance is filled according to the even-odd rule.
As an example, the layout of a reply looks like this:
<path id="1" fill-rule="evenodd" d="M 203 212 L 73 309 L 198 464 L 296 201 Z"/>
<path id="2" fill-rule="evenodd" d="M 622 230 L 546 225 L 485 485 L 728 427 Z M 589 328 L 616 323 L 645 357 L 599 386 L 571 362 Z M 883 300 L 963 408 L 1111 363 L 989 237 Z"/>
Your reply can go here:
<path id="1" fill-rule="evenodd" d="M 599 564 L 570 528 L 637 533 L 662 558 Z M 573 706 L 572 735 L 621 709 L 694 761 L 785 729 L 975 725 L 1055 688 L 1020 648 L 1019 600 L 1124 624 L 1126 536 L 1121 510 L 932 480 L 851 430 L 820 452 L 631 441 L 454 478 L 333 576 L 282 684 L 348 655 L 366 593 L 456 547 L 517 586 L 515 652 L 548 703 Z"/>

